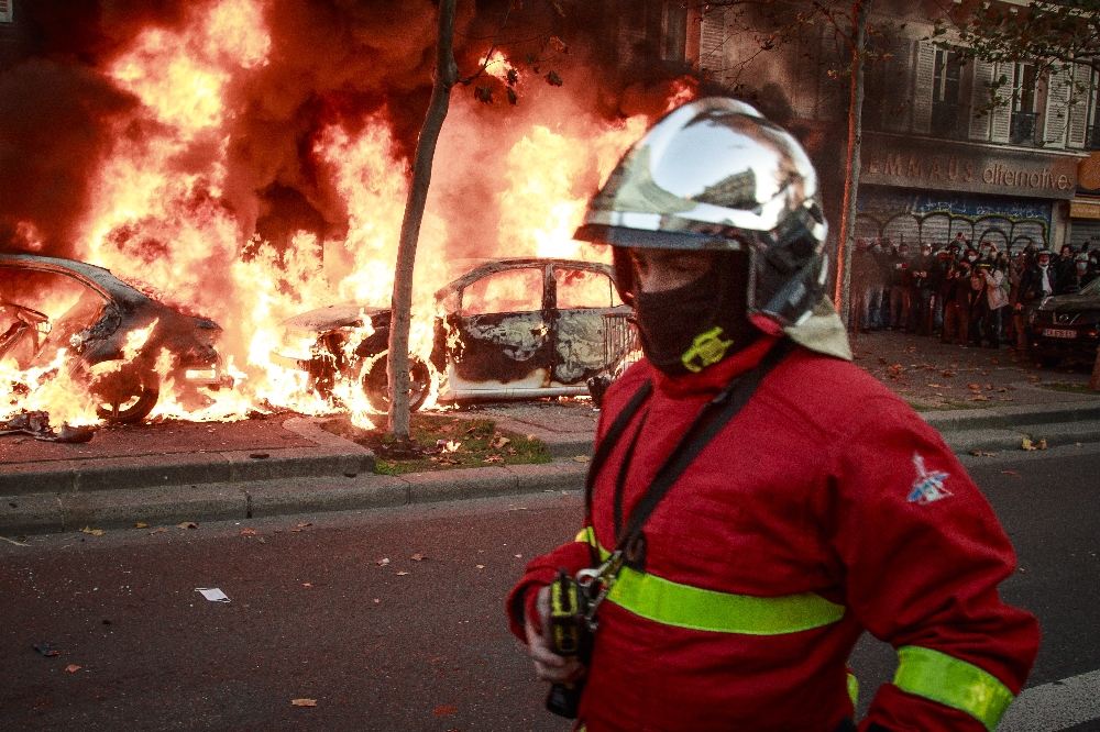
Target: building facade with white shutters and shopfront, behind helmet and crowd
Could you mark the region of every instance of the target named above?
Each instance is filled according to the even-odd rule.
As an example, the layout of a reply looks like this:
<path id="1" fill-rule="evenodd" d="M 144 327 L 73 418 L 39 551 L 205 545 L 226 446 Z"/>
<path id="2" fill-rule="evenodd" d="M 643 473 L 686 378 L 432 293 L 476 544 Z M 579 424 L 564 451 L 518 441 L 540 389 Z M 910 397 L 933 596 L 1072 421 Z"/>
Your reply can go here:
<path id="1" fill-rule="evenodd" d="M 865 66 L 857 236 L 916 244 L 961 233 L 1002 251 L 1093 237 L 1100 246 L 1097 73 L 1078 66 L 1041 78 L 1028 64 L 964 63 L 930 40 L 934 13 L 923 2 L 876 3 L 872 23 L 884 31 L 869 41 L 882 57 Z M 787 124 L 832 141 L 824 167 L 835 167 L 847 147 L 843 43 L 821 23 L 760 53 L 751 20 L 736 8 L 704 11 L 700 68 L 739 96 L 785 95 Z M 990 85 L 1002 77 L 1003 103 L 990 109 Z M 813 137 L 807 146 L 822 147 Z M 825 190 L 836 196 L 835 186 Z"/>

